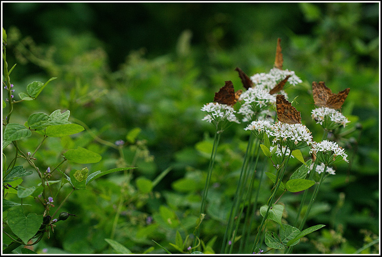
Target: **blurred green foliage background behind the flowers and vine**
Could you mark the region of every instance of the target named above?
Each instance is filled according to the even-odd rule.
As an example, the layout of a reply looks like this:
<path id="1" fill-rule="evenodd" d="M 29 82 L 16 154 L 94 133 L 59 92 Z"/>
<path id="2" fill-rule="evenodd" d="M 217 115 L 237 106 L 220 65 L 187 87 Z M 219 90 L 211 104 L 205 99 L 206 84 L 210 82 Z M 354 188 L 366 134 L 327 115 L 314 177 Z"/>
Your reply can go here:
<path id="1" fill-rule="evenodd" d="M 151 253 L 164 253 L 152 239 L 177 253 L 169 243 L 175 243 L 177 230 L 183 240 L 194 230 L 211 152 L 214 132 L 201 121 L 200 109 L 225 80 L 242 88 L 236 66 L 250 76 L 268 72 L 278 37 L 283 68 L 303 80 L 287 92 L 290 99 L 299 96 L 296 108 L 314 140 L 322 130 L 310 117 L 312 81 L 325 81 L 333 93 L 351 89 L 342 109 L 351 123 L 329 135 L 346 149 L 350 163 L 335 167 L 337 175 L 325 181 L 311 211 L 308 225 L 326 227 L 294 252 L 353 253 L 379 236 L 379 3 L 3 3 L 2 12 L 7 62 L 17 63 L 11 76 L 16 100 L 28 83 L 58 77 L 37 101 L 18 104 L 12 122 L 69 109 L 71 117 L 112 143 L 140 130 L 124 148 L 124 160 L 88 132 L 45 142 L 36 155 L 41 168 L 82 146 L 103 156 L 87 165 L 91 172 L 123 162 L 138 169 L 127 180 L 114 174 L 73 193 L 64 209 L 80 218 L 58 224 L 36 251 L 115 253 L 104 240 L 113 238 L 135 253 L 151 246 Z M 207 253 L 220 251 L 249 136 L 244 127 L 232 125 L 222 135 L 201 233 L 205 242 L 217 236 Z M 22 147 L 34 149 L 39 142 L 34 135 Z M 304 153 L 308 156 L 308 149 Z M 270 171 L 263 162 L 261 168 Z M 290 172 L 299 165 L 292 161 Z M 150 192 L 139 186 L 170 166 Z M 261 202 L 269 190 L 264 188 Z M 299 197 L 282 198 L 287 222 L 294 220 Z M 41 207 L 25 210 L 39 213 Z M 363 253 L 378 251 L 374 245 Z"/>

